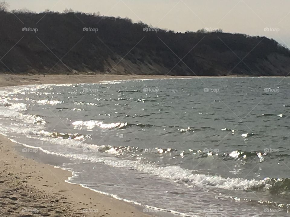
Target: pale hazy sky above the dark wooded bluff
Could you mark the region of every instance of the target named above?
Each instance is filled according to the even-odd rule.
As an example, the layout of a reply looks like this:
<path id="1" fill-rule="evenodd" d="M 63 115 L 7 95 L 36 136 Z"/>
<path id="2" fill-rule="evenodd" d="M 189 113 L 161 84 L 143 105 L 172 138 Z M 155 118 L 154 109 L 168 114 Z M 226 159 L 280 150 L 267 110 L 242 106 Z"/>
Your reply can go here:
<path id="1" fill-rule="evenodd" d="M 1 1 L 1 0 L 0 0 Z M 66 8 L 128 17 L 175 32 L 207 28 L 274 38 L 290 48 L 290 0 L 6 0 L 9 9 Z"/>

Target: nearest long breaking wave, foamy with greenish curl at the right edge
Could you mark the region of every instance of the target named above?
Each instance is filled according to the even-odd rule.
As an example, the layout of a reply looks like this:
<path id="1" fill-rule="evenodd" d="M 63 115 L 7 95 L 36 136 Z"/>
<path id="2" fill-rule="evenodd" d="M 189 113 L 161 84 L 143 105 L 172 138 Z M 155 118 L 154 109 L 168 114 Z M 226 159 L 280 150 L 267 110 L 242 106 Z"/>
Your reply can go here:
<path id="1" fill-rule="evenodd" d="M 67 155 L 63 155 L 66 156 Z M 290 192 L 290 178 L 264 178 L 262 180 L 248 180 L 244 178 L 223 178 L 221 176 L 205 175 L 205 174 L 194 174 L 192 170 L 184 169 L 179 166 L 166 166 L 158 167 L 153 164 L 144 164 L 141 162 L 135 162 L 130 160 L 116 160 L 108 158 L 95 158 L 81 155 L 70 156 L 76 159 L 86 159 L 91 162 L 105 163 L 106 165 L 118 167 L 118 168 L 129 168 L 146 172 L 159 176 L 161 178 L 170 179 L 172 181 L 183 182 L 187 185 L 202 185 L 211 186 L 227 190 L 268 190 L 273 194 L 280 194 L 285 191 Z"/>

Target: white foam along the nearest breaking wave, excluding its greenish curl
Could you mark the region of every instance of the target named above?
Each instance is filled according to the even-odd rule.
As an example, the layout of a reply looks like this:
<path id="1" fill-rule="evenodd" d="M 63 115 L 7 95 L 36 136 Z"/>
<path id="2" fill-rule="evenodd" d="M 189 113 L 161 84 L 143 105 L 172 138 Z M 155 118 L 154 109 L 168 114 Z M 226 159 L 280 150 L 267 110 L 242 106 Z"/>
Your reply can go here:
<path id="1" fill-rule="evenodd" d="M 66 140 L 64 140 L 66 141 Z M 70 140 L 71 141 L 71 140 Z M 83 147 L 82 144 L 75 141 L 75 147 Z M 88 145 L 88 144 L 86 144 Z M 91 145 L 93 146 L 93 145 Z M 37 147 L 36 147 L 37 148 Z M 78 160 L 87 160 L 94 163 L 104 163 L 108 166 L 117 167 L 117 168 L 126 168 L 141 171 L 144 173 L 153 174 L 161 178 L 170 179 L 173 181 L 182 181 L 186 183 L 192 183 L 195 185 L 207 185 L 214 186 L 218 188 L 233 190 L 248 190 L 253 187 L 261 187 L 266 184 L 266 180 L 247 180 L 244 178 L 223 178 L 221 176 L 212 176 L 204 174 L 193 174 L 192 170 L 184 169 L 179 166 L 166 166 L 158 167 L 153 164 L 145 164 L 140 161 L 117 159 L 113 157 L 95 157 L 88 156 L 85 154 L 64 154 L 56 153 L 44 150 L 45 153 L 53 154 L 57 156 L 66 157 L 69 159 L 78 159 Z"/>

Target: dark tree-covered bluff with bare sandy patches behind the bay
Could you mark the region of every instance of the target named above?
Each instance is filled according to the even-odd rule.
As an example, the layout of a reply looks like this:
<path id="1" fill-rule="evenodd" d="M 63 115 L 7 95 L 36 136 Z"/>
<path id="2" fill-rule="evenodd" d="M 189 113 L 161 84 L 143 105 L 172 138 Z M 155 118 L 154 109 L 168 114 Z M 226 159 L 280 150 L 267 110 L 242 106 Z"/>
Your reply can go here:
<path id="1" fill-rule="evenodd" d="M 82 13 L 2 11 L 0 20 L 0 72 L 5 73 L 285 76 L 290 72 L 290 51 L 266 37 L 166 32 L 128 19 Z"/>

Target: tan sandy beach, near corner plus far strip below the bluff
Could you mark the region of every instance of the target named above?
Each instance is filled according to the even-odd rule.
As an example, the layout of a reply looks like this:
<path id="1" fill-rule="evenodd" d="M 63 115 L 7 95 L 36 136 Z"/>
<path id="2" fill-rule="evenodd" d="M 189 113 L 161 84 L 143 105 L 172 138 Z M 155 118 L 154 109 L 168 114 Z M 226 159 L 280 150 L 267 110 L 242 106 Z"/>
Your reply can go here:
<path id="1" fill-rule="evenodd" d="M 48 83 L 96 83 L 100 80 L 164 78 L 120 75 L 1 75 L 0 86 Z M 66 183 L 71 172 L 28 159 L 15 143 L 0 136 L 1 216 L 149 216 L 141 209 L 76 184 Z M 19 145 L 18 145 L 19 146 Z"/>

